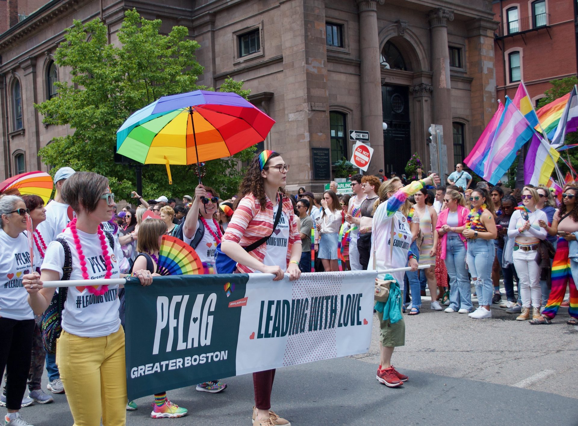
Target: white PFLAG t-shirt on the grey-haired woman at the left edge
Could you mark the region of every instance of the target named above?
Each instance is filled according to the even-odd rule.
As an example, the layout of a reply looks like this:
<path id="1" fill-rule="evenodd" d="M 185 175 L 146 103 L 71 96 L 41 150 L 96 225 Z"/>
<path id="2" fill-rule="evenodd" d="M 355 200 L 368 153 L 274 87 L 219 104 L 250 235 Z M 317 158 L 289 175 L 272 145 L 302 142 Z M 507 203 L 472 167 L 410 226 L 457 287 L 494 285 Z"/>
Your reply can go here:
<path id="1" fill-rule="evenodd" d="M 15 320 L 34 319 L 28 304 L 28 292 L 22 286 L 23 275 L 31 272 L 28 238 L 24 233 L 12 238 L 0 229 L 0 247 L 0 316 Z"/>

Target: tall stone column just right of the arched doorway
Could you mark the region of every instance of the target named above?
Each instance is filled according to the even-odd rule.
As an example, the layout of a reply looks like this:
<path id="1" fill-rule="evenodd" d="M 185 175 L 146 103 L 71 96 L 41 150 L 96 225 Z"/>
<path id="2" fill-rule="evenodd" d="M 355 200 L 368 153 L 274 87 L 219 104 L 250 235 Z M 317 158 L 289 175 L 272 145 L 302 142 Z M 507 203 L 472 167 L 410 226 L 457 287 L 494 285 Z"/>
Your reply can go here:
<path id="1" fill-rule="evenodd" d="M 453 167 L 454 145 L 453 127 L 451 125 L 451 87 L 450 87 L 450 54 L 447 47 L 447 21 L 454 20 L 454 14 L 442 8 L 429 12 L 431 32 L 433 99 L 432 118 L 434 124 L 443 126 L 443 141 L 447 147 L 449 164 L 447 170 Z M 442 177 L 442 181 L 445 178 Z"/>

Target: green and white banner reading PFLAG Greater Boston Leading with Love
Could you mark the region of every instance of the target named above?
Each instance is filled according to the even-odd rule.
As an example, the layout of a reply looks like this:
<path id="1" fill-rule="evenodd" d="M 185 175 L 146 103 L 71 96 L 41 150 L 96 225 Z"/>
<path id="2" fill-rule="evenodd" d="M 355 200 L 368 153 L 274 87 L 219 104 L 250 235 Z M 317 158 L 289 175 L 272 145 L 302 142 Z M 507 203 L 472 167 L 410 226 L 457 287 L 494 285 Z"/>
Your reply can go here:
<path id="1" fill-rule="evenodd" d="M 155 277 L 126 289 L 129 400 L 369 350 L 377 271 Z"/>

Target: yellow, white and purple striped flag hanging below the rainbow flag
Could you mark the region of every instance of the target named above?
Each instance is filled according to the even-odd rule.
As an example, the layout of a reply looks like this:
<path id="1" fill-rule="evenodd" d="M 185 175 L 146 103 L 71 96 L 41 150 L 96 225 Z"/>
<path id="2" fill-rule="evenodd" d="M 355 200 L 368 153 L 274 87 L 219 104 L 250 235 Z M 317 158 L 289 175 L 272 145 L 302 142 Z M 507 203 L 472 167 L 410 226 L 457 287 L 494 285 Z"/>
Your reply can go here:
<path id="1" fill-rule="evenodd" d="M 534 133 L 524 160 L 524 182 L 534 186 L 546 185 L 558 158 L 560 158 L 560 152 L 542 139 L 538 133 Z"/>

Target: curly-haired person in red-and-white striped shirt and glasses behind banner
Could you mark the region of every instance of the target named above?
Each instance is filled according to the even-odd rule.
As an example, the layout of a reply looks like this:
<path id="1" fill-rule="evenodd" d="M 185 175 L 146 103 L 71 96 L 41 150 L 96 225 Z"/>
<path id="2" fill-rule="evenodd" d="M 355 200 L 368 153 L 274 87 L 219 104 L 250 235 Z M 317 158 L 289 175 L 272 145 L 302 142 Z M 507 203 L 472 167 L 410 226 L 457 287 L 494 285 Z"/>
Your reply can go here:
<path id="1" fill-rule="evenodd" d="M 238 272 L 273 274 L 273 281 L 283 279 L 285 274 L 289 275 L 291 281 L 301 276 L 301 238 L 297 218 L 293 204 L 283 190 L 288 170 L 289 165 L 285 164 L 279 153 L 273 151 L 261 152 L 249 165 L 239 188 L 242 199 L 239 200 L 221 244 L 223 253 L 238 263 Z M 275 229 L 279 232 L 269 238 L 266 244 L 246 252 L 243 247 L 272 235 L 274 218 L 279 208 L 281 219 Z M 274 369 L 253 373 L 254 426 L 291 424 L 270 410 L 274 378 Z"/>

